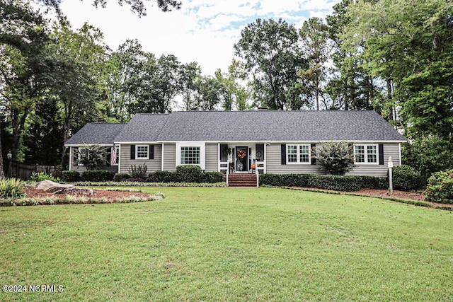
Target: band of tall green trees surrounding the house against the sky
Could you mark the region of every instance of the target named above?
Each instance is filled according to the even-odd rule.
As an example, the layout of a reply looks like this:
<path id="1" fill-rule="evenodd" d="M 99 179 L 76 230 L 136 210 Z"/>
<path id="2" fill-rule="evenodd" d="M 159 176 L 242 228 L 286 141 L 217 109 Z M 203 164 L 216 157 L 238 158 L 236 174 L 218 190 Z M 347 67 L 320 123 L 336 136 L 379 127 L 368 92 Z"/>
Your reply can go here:
<path id="1" fill-rule="evenodd" d="M 61 0 L 35 1 L 55 8 L 59 22 L 28 1 L 0 1 L 0 164 L 8 151 L 16 161 L 65 164 L 64 141 L 86 122 L 260 106 L 376 110 L 415 146 L 432 137 L 453 146 L 453 0 L 343 0 L 300 28 L 257 19 L 231 45 L 229 68 L 212 75 L 138 40 L 110 50 L 98 28 L 70 27 Z M 116 1 L 146 13 L 147 0 Z M 181 6 L 149 1 L 162 11 Z M 406 156 L 418 165 L 415 157 Z"/>

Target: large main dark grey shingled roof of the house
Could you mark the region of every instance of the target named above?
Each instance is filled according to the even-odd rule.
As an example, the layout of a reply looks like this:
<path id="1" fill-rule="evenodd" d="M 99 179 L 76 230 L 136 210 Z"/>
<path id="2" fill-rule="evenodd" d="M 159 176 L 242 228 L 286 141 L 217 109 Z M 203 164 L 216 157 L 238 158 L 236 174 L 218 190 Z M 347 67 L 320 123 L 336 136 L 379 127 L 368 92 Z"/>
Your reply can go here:
<path id="1" fill-rule="evenodd" d="M 406 141 L 374 111 L 137 114 L 115 141 Z"/>

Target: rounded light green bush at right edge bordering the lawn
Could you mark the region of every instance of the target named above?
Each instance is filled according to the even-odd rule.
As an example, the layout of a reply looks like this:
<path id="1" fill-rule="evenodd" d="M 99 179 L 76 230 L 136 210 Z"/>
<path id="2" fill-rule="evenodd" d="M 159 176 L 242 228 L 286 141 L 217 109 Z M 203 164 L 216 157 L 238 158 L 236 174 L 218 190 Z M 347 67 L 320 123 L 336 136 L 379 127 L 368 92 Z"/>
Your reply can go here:
<path id="1" fill-rule="evenodd" d="M 453 204 L 453 170 L 440 171 L 428 179 L 426 200 L 441 204 Z"/>

